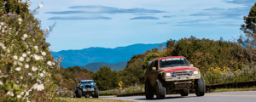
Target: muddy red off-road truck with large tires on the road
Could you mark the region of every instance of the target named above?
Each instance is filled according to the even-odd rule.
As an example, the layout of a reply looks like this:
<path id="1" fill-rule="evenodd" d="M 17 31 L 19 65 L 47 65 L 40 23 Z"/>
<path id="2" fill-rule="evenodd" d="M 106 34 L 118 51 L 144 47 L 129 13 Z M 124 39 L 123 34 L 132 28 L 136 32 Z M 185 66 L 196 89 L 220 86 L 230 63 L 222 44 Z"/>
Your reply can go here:
<path id="1" fill-rule="evenodd" d="M 195 90 L 196 96 L 203 96 L 206 91 L 201 72 L 183 56 L 158 58 L 150 61 L 145 72 L 146 99 L 166 98 L 166 93 L 179 90 L 182 96 L 189 95 L 189 89 Z"/>

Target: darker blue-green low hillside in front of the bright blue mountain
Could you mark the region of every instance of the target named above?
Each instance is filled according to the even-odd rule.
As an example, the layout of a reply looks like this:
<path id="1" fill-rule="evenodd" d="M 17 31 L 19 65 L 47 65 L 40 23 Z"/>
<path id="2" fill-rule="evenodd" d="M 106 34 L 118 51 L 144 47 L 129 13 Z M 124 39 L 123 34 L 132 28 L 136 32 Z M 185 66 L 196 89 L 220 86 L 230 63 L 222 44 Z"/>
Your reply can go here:
<path id="1" fill-rule="evenodd" d="M 111 66 L 111 70 L 119 71 L 119 70 L 122 70 L 126 67 L 127 61 L 121 61 L 121 62 L 116 63 L 116 64 L 108 64 L 108 63 L 105 63 L 105 62 L 96 62 L 96 63 L 90 63 L 90 64 L 87 64 L 87 65 L 83 65 L 83 66 L 81 66 L 81 68 L 85 68 L 89 71 L 98 71 L 99 68 L 102 65 Z"/>

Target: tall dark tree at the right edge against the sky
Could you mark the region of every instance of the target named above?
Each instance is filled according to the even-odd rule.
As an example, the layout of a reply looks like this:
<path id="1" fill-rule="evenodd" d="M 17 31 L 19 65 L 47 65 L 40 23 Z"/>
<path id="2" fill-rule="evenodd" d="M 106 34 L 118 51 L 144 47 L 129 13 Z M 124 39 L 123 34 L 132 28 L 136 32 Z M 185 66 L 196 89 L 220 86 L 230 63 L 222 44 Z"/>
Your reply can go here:
<path id="1" fill-rule="evenodd" d="M 238 42 L 247 48 L 248 60 L 250 63 L 256 58 L 256 3 L 251 8 L 249 14 L 243 17 L 245 24 L 241 25 L 240 30 L 245 33 L 241 35 Z"/>

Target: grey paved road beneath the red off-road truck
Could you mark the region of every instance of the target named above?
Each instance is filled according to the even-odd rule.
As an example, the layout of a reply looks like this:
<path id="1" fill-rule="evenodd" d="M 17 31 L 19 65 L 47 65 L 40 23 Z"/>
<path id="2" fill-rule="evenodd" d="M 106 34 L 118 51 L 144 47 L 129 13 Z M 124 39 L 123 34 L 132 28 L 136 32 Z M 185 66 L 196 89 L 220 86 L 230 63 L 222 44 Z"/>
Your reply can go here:
<path id="1" fill-rule="evenodd" d="M 243 92 L 224 92 L 224 93 L 207 93 L 203 97 L 196 97 L 195 94 L 189 94 L 187 97 L 181 97 L 179 94 L 168 94 L 166 99 L 147 100 L 145 96 L 129 97 L 100 97 L 101 99 L 122 99 L 141 102 L 256 102 L 256 91 Z"/>

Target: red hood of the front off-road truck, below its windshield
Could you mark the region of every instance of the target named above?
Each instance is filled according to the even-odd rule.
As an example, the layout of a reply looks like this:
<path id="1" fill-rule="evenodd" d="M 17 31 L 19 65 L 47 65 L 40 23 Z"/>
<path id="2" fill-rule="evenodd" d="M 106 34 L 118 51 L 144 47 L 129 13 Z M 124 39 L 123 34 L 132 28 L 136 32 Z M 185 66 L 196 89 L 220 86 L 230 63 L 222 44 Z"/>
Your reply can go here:
<path id="1" fill-rule="evenodd" d="M 165 72 L 173 72 L 173 71 L 199 71 L 198 68 L 195 67 L 190 67 L 190 66 L 177 66 L 177 67 L 166 67 L 166 68 L 161 68 L 161 70 Z"/>

